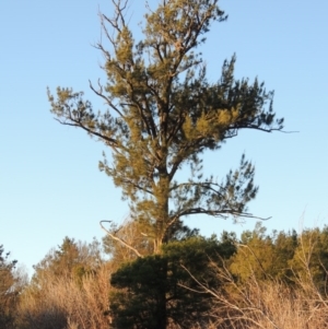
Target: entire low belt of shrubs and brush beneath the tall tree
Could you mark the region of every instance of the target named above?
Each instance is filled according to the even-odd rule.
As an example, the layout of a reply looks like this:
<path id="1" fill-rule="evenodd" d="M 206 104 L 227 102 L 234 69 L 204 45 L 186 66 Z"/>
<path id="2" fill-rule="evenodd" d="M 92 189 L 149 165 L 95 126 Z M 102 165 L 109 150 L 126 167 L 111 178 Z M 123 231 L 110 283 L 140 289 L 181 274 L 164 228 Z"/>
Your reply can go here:
<path id="1" fill-rule="evenodd" d="M 1 328 L 326 328 L 327 232 L 258 223 L 119 265 L 95 240 L 66 237 L 24 286 L 1 248 Z"/>

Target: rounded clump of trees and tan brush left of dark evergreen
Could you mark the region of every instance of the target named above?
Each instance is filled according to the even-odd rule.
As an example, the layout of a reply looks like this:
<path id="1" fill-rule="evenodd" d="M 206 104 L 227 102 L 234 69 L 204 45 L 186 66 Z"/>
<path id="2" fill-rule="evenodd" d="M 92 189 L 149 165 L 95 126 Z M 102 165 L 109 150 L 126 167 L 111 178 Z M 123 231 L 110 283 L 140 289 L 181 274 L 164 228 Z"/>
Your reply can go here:
<path id="1" fill-rule="evenodd" d="M 96 240 L 66 237 L 34 269 L 20 296 L 17 328 L 108 328 L 110 271 Z"/>

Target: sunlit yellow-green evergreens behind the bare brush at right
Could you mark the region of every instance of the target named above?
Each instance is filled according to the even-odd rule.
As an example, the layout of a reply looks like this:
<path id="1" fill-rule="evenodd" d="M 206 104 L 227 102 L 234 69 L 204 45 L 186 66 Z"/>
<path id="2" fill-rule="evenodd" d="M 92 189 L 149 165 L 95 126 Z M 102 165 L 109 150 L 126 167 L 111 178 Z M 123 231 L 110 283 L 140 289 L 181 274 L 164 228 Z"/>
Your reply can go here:
<path id="1" fill-rule="evenodd" d="M 241 235 L 230 270 L 238 281 L 279 280 L 295 285 L 307 282 L 326 294 L 328 280 L 328 227 L 308 228 L 301 234 L 273 231 L 257 223 Z"/>

